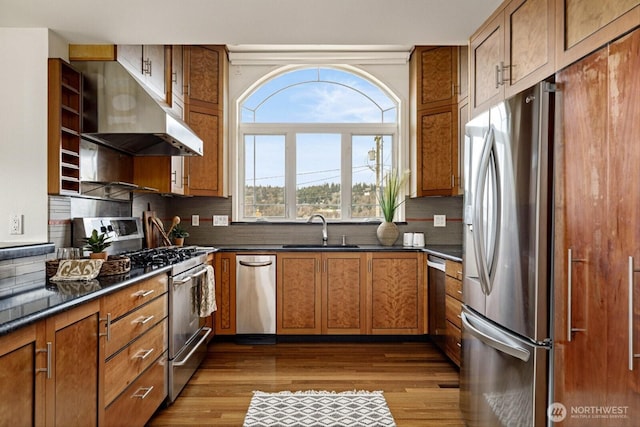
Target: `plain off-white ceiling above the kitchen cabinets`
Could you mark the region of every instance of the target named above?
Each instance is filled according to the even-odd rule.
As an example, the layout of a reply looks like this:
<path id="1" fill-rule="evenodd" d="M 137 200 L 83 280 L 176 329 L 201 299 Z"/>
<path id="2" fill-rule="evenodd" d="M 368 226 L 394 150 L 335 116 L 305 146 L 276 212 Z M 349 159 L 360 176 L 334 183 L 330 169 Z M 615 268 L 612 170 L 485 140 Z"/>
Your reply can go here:
<path id="1" fill-rule="evenodd" d="M 384 46 L 466 44 L 501 0 L 0 0 L 0 27 L 70 43 Z"/>

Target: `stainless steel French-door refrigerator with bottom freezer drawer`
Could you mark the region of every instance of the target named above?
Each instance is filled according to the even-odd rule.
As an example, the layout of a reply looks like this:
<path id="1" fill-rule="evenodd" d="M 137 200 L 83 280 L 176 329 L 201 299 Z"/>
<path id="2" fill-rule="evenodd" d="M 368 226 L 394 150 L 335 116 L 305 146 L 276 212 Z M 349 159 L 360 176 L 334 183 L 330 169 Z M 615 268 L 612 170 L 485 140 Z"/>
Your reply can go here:
<path id="1" fill-rule="evenodd" d="M 460 406 L 468 426 L 546 424 L 553 87 L 466 125 Z"/>

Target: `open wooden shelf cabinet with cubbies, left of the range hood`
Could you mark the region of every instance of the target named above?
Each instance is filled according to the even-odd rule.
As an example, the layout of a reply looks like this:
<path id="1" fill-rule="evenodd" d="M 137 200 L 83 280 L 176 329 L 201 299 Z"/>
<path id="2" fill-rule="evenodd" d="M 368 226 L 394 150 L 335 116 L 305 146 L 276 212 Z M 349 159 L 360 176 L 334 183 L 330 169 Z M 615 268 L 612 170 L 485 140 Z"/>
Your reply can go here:
<path id="1" fill-rule="evenodd" d="M 47 191 L 80 194 L 82 74 L 62 59 L 49 59 Z"/>

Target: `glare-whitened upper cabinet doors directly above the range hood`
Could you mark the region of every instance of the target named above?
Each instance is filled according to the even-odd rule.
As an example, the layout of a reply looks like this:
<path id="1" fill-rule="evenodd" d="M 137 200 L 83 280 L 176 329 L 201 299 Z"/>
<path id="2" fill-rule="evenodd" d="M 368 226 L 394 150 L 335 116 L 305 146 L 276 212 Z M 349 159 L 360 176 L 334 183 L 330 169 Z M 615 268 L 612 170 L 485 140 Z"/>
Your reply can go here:
<path id="1" fill-rule="evenodd" d="M 159 97 L 167 96 L 166 48 L 164 45 L 118 45 L 118 62 Z"/>

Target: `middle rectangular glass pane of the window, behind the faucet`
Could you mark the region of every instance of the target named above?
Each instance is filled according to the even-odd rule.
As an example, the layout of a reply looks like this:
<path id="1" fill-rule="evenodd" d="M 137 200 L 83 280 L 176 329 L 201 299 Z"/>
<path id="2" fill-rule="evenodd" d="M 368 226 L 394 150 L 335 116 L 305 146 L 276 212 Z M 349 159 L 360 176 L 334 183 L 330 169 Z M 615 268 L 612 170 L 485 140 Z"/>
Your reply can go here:
<path id="1" fill-rule="evenodd" d="M 296 218 L 341 218 L 341 135 L 296 135 Z"/>

